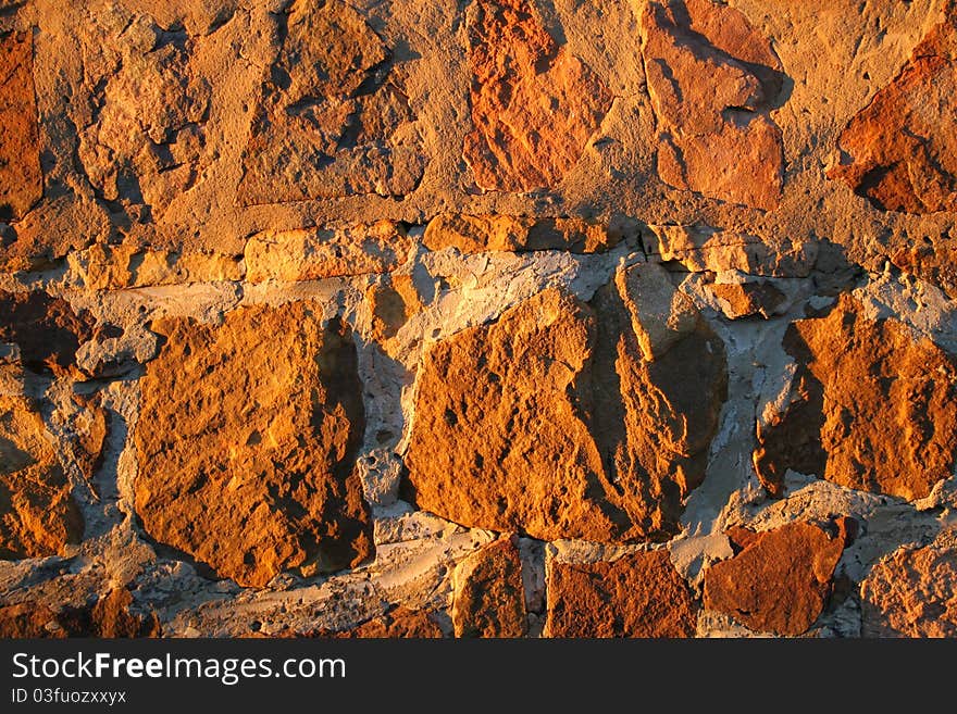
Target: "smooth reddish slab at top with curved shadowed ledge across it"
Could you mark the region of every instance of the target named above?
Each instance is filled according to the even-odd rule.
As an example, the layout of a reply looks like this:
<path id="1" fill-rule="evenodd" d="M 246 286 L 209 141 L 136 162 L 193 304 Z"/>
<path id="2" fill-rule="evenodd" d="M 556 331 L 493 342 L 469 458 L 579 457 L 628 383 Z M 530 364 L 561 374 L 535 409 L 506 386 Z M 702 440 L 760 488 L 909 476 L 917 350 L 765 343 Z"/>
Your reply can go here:
<path id="1" fill-rule="evenodd" d="M 784 75 L 770 40 L 741 11 L 710 0 L 648 2 L 642 32 L 661 180 L 774 209 L 784 152 L 769 111 Z"/>

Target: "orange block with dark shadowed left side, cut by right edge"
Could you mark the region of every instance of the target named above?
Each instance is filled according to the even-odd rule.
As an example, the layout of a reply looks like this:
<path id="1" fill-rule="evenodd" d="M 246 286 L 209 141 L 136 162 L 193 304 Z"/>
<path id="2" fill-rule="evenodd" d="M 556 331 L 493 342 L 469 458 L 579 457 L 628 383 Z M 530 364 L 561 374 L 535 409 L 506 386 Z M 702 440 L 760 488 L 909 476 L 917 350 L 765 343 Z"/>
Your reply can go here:
<path id="1" fill-rule="evenodd" d="M 957 360 L 842 296 L 788 327 L 797 362 L 783 411 L 758 423 L 755 468 L 780 493 L 787 468 L 908 500 L 948 478 L 957 456 Z"/>

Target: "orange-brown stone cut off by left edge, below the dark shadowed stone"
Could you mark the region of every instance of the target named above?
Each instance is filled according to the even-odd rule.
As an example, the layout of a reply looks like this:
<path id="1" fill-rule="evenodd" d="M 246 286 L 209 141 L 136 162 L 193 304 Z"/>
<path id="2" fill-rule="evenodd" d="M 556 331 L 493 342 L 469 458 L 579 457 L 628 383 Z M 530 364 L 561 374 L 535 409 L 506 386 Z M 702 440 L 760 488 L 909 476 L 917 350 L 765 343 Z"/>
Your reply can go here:
<path id="1" fill-rule="evenodd" d="M 0 559 L 57 555 L 82 536 L 83 516 L 39 410 L 0 396 Z"/>

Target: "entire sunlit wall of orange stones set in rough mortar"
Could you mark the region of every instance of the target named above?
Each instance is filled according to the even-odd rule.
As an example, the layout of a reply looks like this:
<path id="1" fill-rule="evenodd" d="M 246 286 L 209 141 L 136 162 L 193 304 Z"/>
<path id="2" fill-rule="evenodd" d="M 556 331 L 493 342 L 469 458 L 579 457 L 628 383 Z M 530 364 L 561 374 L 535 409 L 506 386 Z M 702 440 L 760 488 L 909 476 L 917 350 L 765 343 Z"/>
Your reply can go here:
<path id="1" fill-rule="evenodd" d="M 4 636 L 957 635 L 953 0 L 0 1 Z"/>

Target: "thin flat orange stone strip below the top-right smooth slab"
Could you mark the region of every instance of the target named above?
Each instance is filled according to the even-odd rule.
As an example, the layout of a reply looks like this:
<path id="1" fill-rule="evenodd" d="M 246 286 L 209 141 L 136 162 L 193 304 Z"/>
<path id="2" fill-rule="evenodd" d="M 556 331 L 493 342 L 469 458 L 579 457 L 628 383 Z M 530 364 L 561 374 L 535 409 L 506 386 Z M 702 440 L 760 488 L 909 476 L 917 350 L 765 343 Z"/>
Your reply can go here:
<path id="1" fill-rule="evenodd" d="M 807 277 L 818 245 L 788 239 L 769 242 L 758 236 L 707 225 L 651 225 L 643 236 L 648 253 L 675 261 L 693 273 L 739 271 L 762 277 Z"/>

